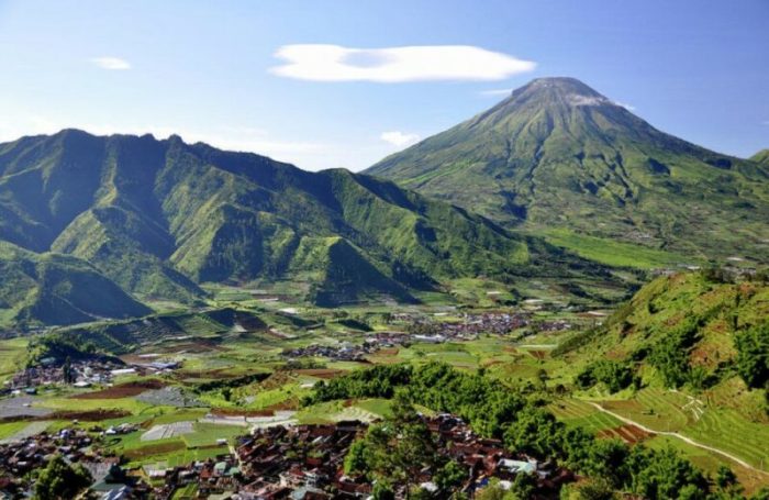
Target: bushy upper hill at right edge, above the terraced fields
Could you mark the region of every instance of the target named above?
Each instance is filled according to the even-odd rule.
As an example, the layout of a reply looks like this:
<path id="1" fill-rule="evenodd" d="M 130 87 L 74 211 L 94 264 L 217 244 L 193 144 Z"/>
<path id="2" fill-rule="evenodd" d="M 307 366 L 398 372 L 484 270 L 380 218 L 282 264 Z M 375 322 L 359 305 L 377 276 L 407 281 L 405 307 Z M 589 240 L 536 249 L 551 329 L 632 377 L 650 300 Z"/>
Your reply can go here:
<path id="1" fill-rule="evenodd" d="M 556 354 L 581 366 L 578 384 L 635 384 L 724 398 L 766 420 L 769 281 L 709 269 L 655 279 L 606 323 Z M 632 382 L 632 376 L 636 380 Z"/>

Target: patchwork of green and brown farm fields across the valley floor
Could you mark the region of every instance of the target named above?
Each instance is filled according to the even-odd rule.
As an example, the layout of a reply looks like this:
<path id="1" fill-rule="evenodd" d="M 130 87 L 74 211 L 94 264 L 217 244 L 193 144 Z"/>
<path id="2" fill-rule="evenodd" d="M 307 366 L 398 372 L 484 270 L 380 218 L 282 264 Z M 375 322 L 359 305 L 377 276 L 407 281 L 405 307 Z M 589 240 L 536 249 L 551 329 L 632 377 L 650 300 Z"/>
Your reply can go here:
<path id="1" fill-rule="evenodd" d="M 53 385 L 38 388 L 35 395 L 5 398 L 0 401 L 5 412 L 0 438 L 24 435 L 27 429 L 66 429 L 73 419 L 98 429 L 135 424 L 136 432 L 109 436 L 105 449 L 122 455 L 131 468 L 172 467 L 227 453 L 234 440 L 250 429 L 387 418 L 388 399 L 354 398 L 310 405 L 304 400 L 317 384 L 350 371 L 437 360 L 462 371 L 483 373 L 511 390 L 523 388 L 537 395 L 568 427 L 631 445 L 672 446 L 711 474 L 718 465 L 728 465 L 748 489 L 769 482 L 769 457 L 761 445 L 769 442 L 769 426 L 760 412 L 745 410 L 756 408 L 755 403 L 734 403 L 755 398 L 744 386 L 728 381 L 704 393 L 670 390 L 648 371 L 640 387 L 615 393 L 601 387 L 577 388 L 575 377 L 584 362 L 558 354 L 558 346 L 576 332 L 594 329 L 610 310 L 567 310 L 554 297 L 503 304 L 500 300 L 510 297 L 488 295 L 499 284 L 464 280 L 455 286 L 450 301 L 420 305 L 375 302 L 333 310 L 303 304 L 289 288 L 254 295 L 218 287 L 211 289 L 212 308 L 204 311 L 160 313 L 142 324 L 63 329 L 58 333 L 65 337 L 88 338 L 104 352 L 118 346 L 120 359 L 138 371 L 86 389 Z M 482 307 L 468 305 L 478 298 Z M 501 334 L 473 330 L 434 340 L 414 333 L 421 331 L 414 325 L 464 331 L 457 325 L 478 318 L 493 322 L 499 314 L 523 314 L 526 320 Z M 561 324 L 568 327 L 550 327 Z M 133 344 L 121 336 L 126 331 L 134 333 Z M 361 343 L 371 347 L 355 351 Z M 24 337 L 0 341 L 0 366 L 5 367 L 7 377 L 26 354 L 26 345 Z M 316 352 L 330 354 L 313 354 Z M 141 368 L 152 363 L 172 367 Z M 430 408 L 420 410 L 433 413 Z M 738 457 L 751 468 L 664 435 L 673 432 Z"/>

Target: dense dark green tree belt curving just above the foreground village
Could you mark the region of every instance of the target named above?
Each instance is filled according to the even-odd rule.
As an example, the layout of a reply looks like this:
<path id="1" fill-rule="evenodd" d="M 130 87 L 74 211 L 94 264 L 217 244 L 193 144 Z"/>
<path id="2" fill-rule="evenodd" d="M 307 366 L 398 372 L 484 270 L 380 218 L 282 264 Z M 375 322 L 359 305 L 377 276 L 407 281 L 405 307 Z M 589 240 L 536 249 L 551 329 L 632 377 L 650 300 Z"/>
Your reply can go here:
<path id="1" fill-rule="evenodd" d="M 381 386 L 375 382 L 377 376 L 383 377 Z M 387 390 L 377 392 L 378 387 L 387 387 Z M 557 459 L 599 480 L 599 485 L 608 485 L 611 490 L 633 491 L 644 498 L 704 499 L 709 496 L 705 476 L 673 451 L 655 451 L 640 445 L 628 447 L 621 441 L 597 440 L 581 429 L 558 422 L 536 397 L 504 387 L 482 373 L 462 373 L 443 363 L 419 367 L 380 366 L 356 371 L 321 385 L 313 400 L 390 398 L 395 390 L 399 397 L 413 403 L 461 416 L 477 433 L 502 438 L 514 452 L 539 459 Z M 399 476 L 376 465 L 380 458 L 370 451 L 386 449 L 386 446 L 393 449 L 398 434 L 393 434 L 392 429 L 375 426 L 365 444 L 353 447 L 350 456 L 357 458 L 348 457 L 350 467 L 353 463 L 366 463 L 382 477 L 401 478 L 402 473 Z M 430 448 L 421 445 L 420 449 Z M 357 465 L 353 469 L 361 467 Z"/>

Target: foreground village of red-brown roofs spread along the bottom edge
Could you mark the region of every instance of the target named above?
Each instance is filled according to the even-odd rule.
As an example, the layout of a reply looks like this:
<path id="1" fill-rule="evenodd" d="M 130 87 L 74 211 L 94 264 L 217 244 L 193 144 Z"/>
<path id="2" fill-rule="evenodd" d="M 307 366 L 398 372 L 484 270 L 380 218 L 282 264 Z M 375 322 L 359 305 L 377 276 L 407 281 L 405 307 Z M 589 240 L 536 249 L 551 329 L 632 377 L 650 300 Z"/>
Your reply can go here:
<path id="1" fill-rule="evenodd" d="M 481 438 L 460 419 L 450 414 L 421 416 L 430 429 L 437 453 L 467 470 L 461 491 L 468 495 L 487 486 L 491 478 L 510 486 L 519 474 L 535 475 L 543 491 L 555 490 L 571 480 L 570 471 L 513 454 L 499 440 Z M 0 491 L 11 498 L 31 493 L 31 470 L 40 470 L 55 455 L 79 464 L 91 476 L 91 490 L 103 499 L 170 499 L 175 491 L 196 491 L 193 498 L 232 499 L 332 499 L 368 498 L 371 482 L 348 476 L 344 460 L 350 445 L 361 438 L 367 423 L 255 426 L 235 440 L 230 453 L 187 465 L 125 470 L 121 457 L 102 453 L 110 435 L 137 432 L 136 425 L 88 430 L 78 424 L 55 434 L 40 433 L 0 445 Z M 435 470 L 423 469 L 417 486 L 437 492 Z M 398 498 L 405 492 L 395 491 Z"/>

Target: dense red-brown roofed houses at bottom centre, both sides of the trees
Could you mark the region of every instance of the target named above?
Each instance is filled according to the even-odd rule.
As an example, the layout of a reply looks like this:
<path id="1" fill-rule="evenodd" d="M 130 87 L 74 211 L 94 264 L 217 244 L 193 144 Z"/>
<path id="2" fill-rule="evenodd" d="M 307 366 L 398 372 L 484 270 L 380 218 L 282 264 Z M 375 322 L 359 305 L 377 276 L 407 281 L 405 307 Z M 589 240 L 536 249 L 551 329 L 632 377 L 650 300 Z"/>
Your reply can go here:
<path id="1" fill-rule="evenodd" d="M 519 474 L 534 475 L 543 492 L 555 492 L 560 484 L 573 480 L 567 469 L 513 454 L 499 440 L 476 435 L 456 416 L 441 414 L 424 419 L 436 438 L 438 454 L 466 468 L 467 476 L 459 489 L 468 496 L 488 486 L 492 478 L 499 479 L 502 488 L 510 488 Z M 202 498 L 369 498 L 371 484 L 344 471 L 349 446 L 366 430 L 367 424 L 358 421 L 255 429 L 239 438 L 233 454 L 160 473 L 165 482 L 155 489 L 155 495 L 169 498 L 175 490 L 197 482 Z M 435 473 L 423 469 L 416 484 L 437 493 L 438 487 L 433 482 Z M 395 493 L 399 498 L 404 496 L 404 491 Z"/>

